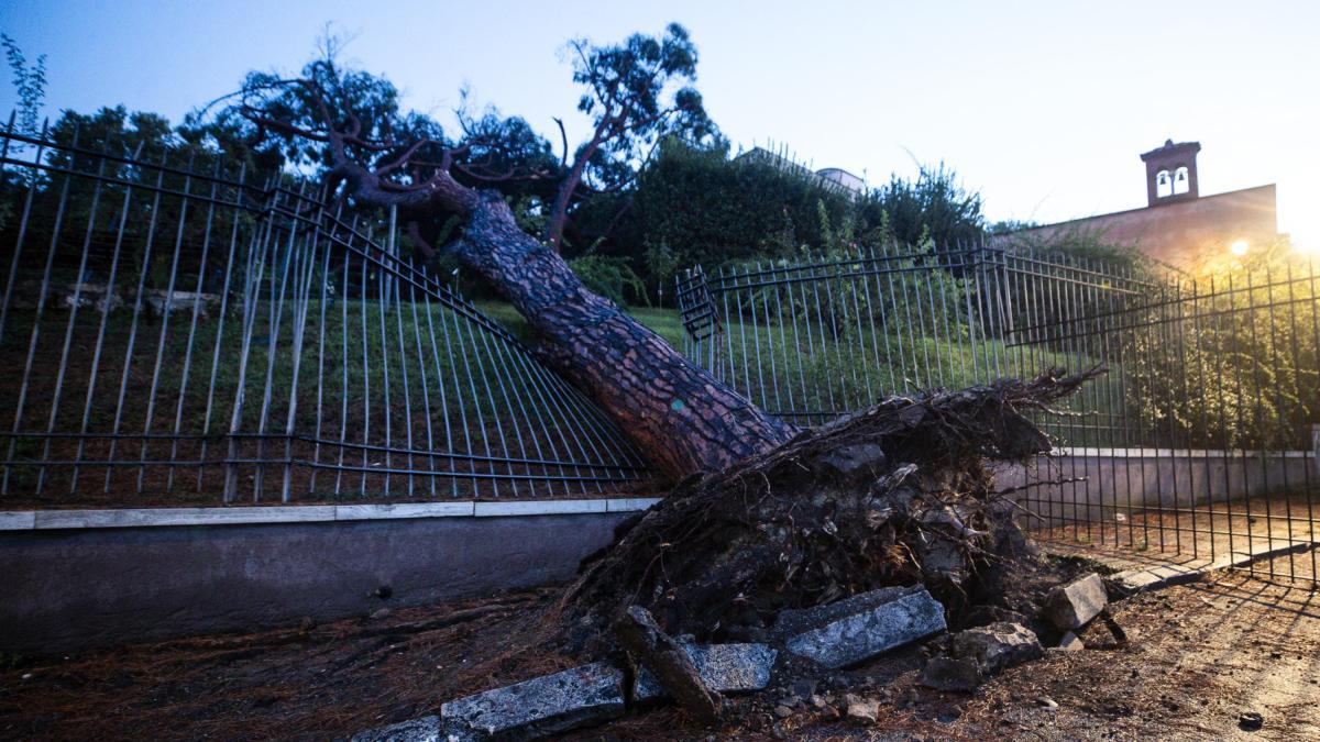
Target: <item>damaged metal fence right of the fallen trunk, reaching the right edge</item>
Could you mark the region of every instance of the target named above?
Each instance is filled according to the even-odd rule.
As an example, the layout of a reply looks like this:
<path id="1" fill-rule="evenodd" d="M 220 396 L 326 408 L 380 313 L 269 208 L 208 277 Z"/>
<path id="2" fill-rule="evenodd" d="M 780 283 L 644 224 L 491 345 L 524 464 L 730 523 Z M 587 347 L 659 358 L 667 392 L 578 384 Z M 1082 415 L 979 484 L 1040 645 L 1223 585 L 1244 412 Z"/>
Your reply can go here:
<path id="1" fill-rule="evenodd" d="M 1191 280 L 989 247 L 851 251 L 677 281 L 684 353 L 800 424 L 888 393 L 1104 364 L 1001 483 L 1049 536 L 1316 578 L 1320 272 Z"/>

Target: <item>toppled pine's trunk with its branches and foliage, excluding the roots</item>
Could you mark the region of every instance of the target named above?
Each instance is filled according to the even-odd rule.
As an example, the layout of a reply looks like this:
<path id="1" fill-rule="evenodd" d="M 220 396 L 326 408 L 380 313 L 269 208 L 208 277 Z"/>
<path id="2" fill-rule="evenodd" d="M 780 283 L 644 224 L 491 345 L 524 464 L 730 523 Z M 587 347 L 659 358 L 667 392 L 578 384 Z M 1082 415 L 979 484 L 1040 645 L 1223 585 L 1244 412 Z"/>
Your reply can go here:
<path id="1" fill-rule="evenodd" d="M 327 199 L 396 209 L 421 257 L 444 252 L 486 279 L 527 318 L 540 358 L 612 416 L 663 478 L 715 471 L 785 442 L 797 432 L 793 425 L 589 290 L 560 255 L 564 210 L 573 194 L 589 190 L 583 173 L 590 162 L 611 152 L 626 160 L 663 136 L 709 127 L 700 95 L 690 87 L 672 90 L 694 75 L 696 49 L 681 26 L 671 25 L 659 38 L 636 34 L 618 46 L 578 42 L 573 49 L 579 58 L 574 81 L 586 90 L 578 107 L 593 116 L 594 128 L 572 166 L 566 140 L 557 168 L 519 165 L 512 149 L 525 148 L 529 135 L 513 136 L 507 125 L 482 128 L 463 118 L 467 136 L 447 141 L 401 115 L 392 86 L 372 91 L 379 81 L 339 70 L 330 55 L 309 65 L 302 78 L 251 75 L 220 118 L 247 121 L 257 144 L 277 139 L 322 165 Z M 309 148 L 314 157 L 305 154 Z M 524 231 L 494 187 L 510 181 L 554 184 L 546 240 Z M 430 244 L 434 234 L 451 239 Z"/>

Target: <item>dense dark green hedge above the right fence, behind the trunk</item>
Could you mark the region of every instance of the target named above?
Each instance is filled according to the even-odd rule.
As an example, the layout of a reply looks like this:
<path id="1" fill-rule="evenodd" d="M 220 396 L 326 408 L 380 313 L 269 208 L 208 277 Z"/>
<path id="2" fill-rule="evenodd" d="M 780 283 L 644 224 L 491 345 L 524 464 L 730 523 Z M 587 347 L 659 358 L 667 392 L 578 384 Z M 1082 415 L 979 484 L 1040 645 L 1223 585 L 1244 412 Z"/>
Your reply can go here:
<path id="1" fill-rule="evenodd" d="M 599 250 L 632 259 L 656 287 L 672 280 L 644 259 L 656 244 L 672 251 L 678 268 L 714 268 L 888 243 L 933 253 L 935 246 L 979 242 L 985 227 L 981 197 L 942 164 L 854 197 L 805 168 L 756 154 L 731 157 L 727 147 L 664 140 L 638 178 L 626 218 Z"/>

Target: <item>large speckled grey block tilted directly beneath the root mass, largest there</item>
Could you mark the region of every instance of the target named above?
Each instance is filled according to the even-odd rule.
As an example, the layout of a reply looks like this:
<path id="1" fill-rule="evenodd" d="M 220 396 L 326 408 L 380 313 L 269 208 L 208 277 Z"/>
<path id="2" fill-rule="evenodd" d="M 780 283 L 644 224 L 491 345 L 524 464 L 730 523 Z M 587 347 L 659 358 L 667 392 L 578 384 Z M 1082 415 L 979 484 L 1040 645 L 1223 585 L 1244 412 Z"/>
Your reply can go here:
<path id="1" fill-rule="evenodd" d="M 774 634 L 784 647 L 836 669 L 944 631 L 944 606 L 921 585 L 883 588 L 804 610 L 785 610 Z"/>

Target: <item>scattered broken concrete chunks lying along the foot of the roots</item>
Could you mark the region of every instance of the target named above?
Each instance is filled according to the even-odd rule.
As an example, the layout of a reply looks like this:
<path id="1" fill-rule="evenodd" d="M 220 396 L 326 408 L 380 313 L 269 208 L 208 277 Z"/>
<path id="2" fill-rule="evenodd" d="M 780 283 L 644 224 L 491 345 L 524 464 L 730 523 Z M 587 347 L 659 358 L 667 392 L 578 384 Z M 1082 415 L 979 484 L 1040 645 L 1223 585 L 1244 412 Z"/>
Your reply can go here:
<path id="1" fill-rule="evenodd" d="M 1063 632 L 1061 650 L 1084 648 L 1074 630 L 1104 614 L 1105 584 L 1090 573 L 1052 590 L 1041 618 Z M 923 585 L 884 588 L 801 610 L 784 610 L 771 630 L 777 647 L 825 669 L 862 663 L 903 644 L 945 631 L 944 606 Z M 1053 634 L 1051 634 L 1053 636 Z M 678 640 L 709 691 L 756 692 L 770 687 L 780 651 L 771 644 L 696 644 Z M 941 691 L 973 691 L 1001 671 L 1044 656 L 1036 634 L 1014 621 L 998 621 L 939 639 L 921 684 Z M 628 704 L 668 697 L 645 668 L 626 689 L 623 671 L 594 663 L 525 683 L 446 702 L 440 716 L 363 731 L 354 742 L 469 742 L 536 739 L 601 724 L 624 714 Z M 814 681 L 800 694 L 816 698 Z M 820 700 L 820 705 L 828 705 Z M 833 710 L 833 706 L 832 706 Z M 876 718 L 875 702 L 845 697 L 836 713 L 853 724 Z M 779 716 L 791 716 L 785 701 Z"/>

